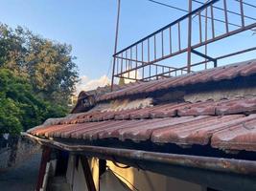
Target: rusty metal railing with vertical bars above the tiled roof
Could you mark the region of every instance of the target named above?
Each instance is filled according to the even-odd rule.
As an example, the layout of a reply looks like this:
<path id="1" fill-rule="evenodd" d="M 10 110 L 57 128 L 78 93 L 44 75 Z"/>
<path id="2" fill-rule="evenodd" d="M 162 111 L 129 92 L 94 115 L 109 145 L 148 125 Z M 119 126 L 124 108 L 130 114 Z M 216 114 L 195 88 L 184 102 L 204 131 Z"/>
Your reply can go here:
<path id="1" fill-rule="evenodd" d="M 230 3 L 237 6 L 237 11 L 228 9 Z M 195 4 L 199 7 L 193 11 Z M 255 51 L 256 47 L 253 47 L 218 57 L 207 55 L 208 44 L 256 27 L 256 18 L 246 15 L 244 6 L 250 6 L 256 11 L 254 5 L 243 0 L 211 0 L 206 3 L 189 0 L 187 14 L 113 55 L 113 78 L 147 81 L 188 74 L 193 72 L 195 66 L 206 69 L 211 62 L 212 67 L 217 67 L 220 59 Z M 222 18 L 218 17 L 220 14 L 223 15 Z M 219 32 L 220 29 L 223 32 Z M 204 53 L 197 50 L 200 47 L 204 48 Z M 184 59 L 186 63 L 182 67 L 160 64 L 182 53 L 187 53 L 187 58 Z M 192 53 L 203 60 L 192 63 Z"/>

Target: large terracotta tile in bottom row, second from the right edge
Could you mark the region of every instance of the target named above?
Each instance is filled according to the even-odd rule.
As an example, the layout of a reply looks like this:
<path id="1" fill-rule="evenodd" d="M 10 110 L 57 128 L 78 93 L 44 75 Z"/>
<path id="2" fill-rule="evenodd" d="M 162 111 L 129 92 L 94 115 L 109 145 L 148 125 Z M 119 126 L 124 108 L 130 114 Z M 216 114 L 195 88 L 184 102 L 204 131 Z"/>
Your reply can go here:
<path id="1" fill-rule="evenodd" d="M 170 126 L 169 128 L 153 132 L 152 141 L 159 143 L 175 142 L 177 144 L 205 145 L 210 142 L 210 138 L 214 132 L 221 131 L 225 127 L 237 124 L 239 121 L 235 119 L 240 119 L 242 117 L 244 116 L 234 115 L 226 117 L 196 118 L 192 122 Z"/>

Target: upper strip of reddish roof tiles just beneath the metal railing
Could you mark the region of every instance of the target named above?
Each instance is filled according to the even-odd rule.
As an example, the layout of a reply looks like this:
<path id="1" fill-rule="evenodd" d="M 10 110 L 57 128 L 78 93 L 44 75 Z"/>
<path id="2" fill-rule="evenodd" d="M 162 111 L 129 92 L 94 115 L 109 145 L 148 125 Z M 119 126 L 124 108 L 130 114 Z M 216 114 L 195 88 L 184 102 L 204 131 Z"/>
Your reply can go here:
<path id="1" fill-rule="evenodd" d="M 100 96 L 99 101 L 138 94 L 146 96 L 147 94 L 160 90 L 169 90 L 181 86 L 212 81 L 218 82 L 221 80 L 232 80 L 239 76 L 249 76 L 252 74 L 256 74 L 256 60 L 204 70 L 198 73 L 184 74 L 176 77 L 139 83 L 134 86 L 128 86 L 128 88 Z"/>

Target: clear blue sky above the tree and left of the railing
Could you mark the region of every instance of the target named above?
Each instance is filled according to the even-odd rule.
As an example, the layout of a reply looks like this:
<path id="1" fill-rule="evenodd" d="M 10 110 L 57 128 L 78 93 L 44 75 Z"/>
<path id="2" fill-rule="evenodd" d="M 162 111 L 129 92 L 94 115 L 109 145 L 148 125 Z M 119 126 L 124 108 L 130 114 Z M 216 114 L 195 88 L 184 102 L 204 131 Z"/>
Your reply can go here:
<path id="1" fill-rule="evenodd" d="M 187 0 L 159 1 L 187 9 Z M 24 26 L 46 38 L 71 44 L 73 55 L 78 57 L 76 63 L 79 66 L 79 73 L 81 76 L 86 75 L 86 80 L 100 78 L 105 74 L 110 76 L 116 0 L 0 0 L 0 2 L 2 23 L 13 28 L 17 25 Z M 147 0 L 122 0 L 119 50 L 182 14 L 181 11 L 158 6 Z M 244 35 L 243 46 L 255 42 L 255 36 L 252 36 L 251 32 L 241 35 Z M 239 47 L 236 39 L 227 42 L 229 47 L 222 46 L 221 49 L 216 47 L 213 48 L 214 52 L 219 53 L 222 49 L 235 50 Z M 243 59 L 252 56 L 253 54 L 248 54 Z"/>

